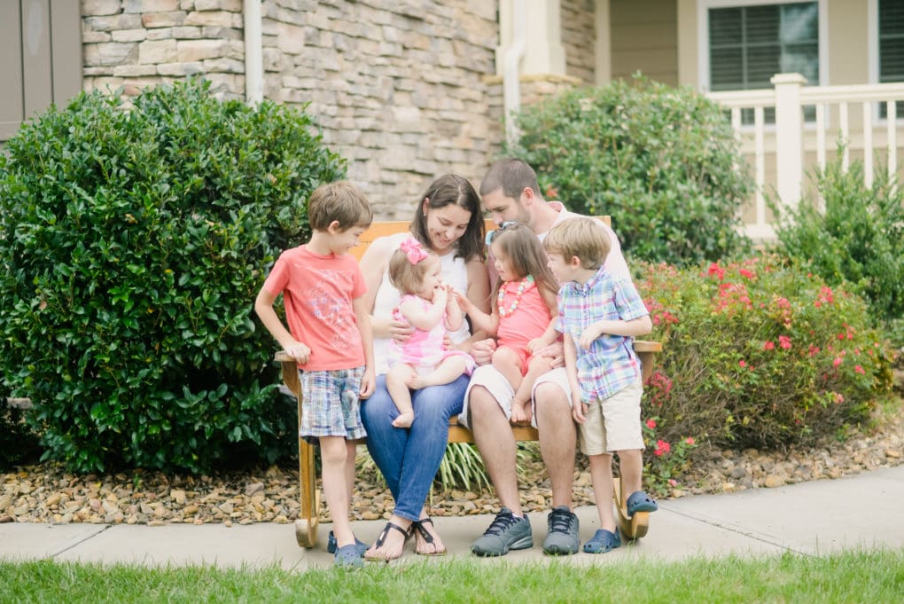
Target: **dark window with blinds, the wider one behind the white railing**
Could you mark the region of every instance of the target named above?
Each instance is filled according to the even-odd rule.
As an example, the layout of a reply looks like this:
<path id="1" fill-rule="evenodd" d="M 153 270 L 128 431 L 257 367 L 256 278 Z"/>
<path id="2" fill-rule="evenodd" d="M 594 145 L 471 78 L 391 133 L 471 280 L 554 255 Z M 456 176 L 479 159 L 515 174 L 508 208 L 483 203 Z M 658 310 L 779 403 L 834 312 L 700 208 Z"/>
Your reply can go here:
<path id="1" fill-rule="evenodd" d="M 819 6 L 816 2 L 711 8 L 710 90 L 772 88 L 777 73 L 796 72 L 819 83 Z M 813 119 L 809 108 L 806 118 Z M 753 123 L 753 109 L 742 112 Z M 766 120 L 775 123 L 775 110 Z"/>

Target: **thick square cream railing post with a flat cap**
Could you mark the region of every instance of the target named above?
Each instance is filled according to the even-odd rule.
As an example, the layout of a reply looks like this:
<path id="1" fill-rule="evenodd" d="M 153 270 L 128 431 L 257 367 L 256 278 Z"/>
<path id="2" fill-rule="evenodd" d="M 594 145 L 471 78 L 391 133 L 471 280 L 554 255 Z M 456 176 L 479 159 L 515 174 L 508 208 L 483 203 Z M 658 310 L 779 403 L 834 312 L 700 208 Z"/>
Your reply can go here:
<path id="1" fill-rule="evenodd" d="M 776 180 L 783 205 L 796 208 L 804 180 L 804 114 L 800 88 L 806 79 L 799 73 L 777 73 L 776 87 Z"/>

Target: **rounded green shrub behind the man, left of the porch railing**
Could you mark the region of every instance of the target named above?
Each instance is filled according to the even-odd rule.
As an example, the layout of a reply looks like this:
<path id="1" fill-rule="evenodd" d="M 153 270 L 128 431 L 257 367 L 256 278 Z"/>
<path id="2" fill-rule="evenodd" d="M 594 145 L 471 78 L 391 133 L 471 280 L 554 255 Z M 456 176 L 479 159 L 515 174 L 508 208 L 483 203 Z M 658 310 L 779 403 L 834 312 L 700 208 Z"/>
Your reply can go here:
<path id="1" fill-rule="evenodd" d="M 573 90 L 515 117 L 505 149 L 574 212 L 608 213 L 634 258 L 671 264 L 747 249 L 738 208 L 753 190 L 720 107 L 638 78 Z"/>

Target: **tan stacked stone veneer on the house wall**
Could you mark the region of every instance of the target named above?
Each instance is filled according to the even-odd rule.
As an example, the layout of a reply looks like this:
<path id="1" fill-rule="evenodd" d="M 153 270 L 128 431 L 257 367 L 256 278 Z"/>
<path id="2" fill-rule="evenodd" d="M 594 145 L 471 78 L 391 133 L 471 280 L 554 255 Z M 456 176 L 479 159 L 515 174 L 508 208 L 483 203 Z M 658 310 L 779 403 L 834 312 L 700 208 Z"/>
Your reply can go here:
<path id="1" fill-rule="evenodd" d="M 570 31 L 592 25 L 592 3 L 566 4 Z M 242 0 L 81 0 L 85 89 L 135 95 L 201 75 L 244 99 L 242 10 Z M 409 218 L 437 175 L 479 184 L 504 136 L 495 2 L 264 0 L 262 16 L 265 98 L 306 106 L 379 219 Z M 586 79 L 592 70 L 572 58 L 581 31 L 569 72 Z M 529 85 L 525 102 L 547 89 Z"/>

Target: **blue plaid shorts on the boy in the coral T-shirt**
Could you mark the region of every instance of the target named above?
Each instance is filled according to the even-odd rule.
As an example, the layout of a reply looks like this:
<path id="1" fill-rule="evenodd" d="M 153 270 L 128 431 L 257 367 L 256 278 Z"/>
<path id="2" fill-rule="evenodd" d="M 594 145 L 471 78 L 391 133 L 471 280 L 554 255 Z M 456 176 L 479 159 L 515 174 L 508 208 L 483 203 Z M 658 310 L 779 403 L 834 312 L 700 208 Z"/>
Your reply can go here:
<path id="1" fill-rule="evenodd" d="M 354 440 L 367 436 L 361 422 L 361 401 L 358 400 L 363 366 L 300 373 L 304 398 L 299 438 L 339 436 Z"/>

